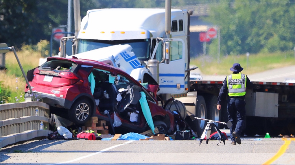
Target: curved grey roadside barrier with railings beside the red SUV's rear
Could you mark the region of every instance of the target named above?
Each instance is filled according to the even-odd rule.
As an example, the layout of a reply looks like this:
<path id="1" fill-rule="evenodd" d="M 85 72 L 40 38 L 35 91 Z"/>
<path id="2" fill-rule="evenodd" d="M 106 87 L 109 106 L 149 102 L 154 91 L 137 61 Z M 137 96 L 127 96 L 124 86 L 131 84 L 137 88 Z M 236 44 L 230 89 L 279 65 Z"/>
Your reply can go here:
<path id="1" fill-rule="evenodd" d="M 40 129 L 41 121 L 43 129 Z M 48 129 L 49 105 L 43 102 L 0 104 L 0 148 L 47 136 L 52 132 Z"/>

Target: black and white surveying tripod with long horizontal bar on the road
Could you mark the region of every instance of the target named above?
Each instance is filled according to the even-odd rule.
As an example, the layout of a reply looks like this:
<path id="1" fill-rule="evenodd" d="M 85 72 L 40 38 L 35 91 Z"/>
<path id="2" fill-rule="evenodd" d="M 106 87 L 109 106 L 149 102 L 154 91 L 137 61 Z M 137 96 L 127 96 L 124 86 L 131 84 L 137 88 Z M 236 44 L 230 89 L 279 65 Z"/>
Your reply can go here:
<path id="1" fill-rule="evenodd" d="M 216 129 L 216 131 L 217 131 L 217 134 L 219 136 L 219 143 L 221 143 L 221 141 L 222 141 L 223 144 L 225 145 L 224 139 L 221 138 L 221 131 L 217 128 L 217 126 L 214 124 L 214 122 L 227 125 L 227 127 L 231 127 L 232 122 L 228 121 L 227 123 L 224 123 L 224 122 L 219 122 L 219 121 L 214 121 L 214 120 L 202 119 L 202 118 L 199 118 L 199 117 L 195 117 L 194 115 L 191 115 L 191 119 L 192 120 L 199 119 L 199 120 L 208 121 L 208 123 L 207 123 L 207 125 L 206 125 L 206 127 L 204 129 L 204 132 L 203 132 L 203 134 L 201 136 L 200 145 L 203 142 L 203 140 L 205 139 L 205 137 L 206 137 L 206 144 L 208 145 L 212 127 L 214 127 Z M 217 143 L 217 145 L 219 145 L 219 143 Z"/>

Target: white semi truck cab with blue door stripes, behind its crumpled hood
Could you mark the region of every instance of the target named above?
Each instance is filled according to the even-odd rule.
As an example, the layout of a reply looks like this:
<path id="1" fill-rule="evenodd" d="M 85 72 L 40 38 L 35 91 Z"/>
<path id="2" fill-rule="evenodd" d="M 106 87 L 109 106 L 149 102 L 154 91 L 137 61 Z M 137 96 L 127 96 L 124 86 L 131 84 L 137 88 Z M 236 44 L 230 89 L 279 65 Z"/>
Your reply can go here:
<path id="1" fill-rule="evenodd" d="M 148 68 L 150 65 L 151 68 L 152 65 L 158 65 L 158 70 L 154 73 L 140 71 L 143 75 L 135 76 L 135 79 L 142 83 L 151 82 L 152 75 L 160 85 L 158 94 L 167 94 L 166 98 L 170 98 L 170 94 L 186 93 L 189 80 L 185 73 L 189 69 L 188 16 L 186 10 L 172 9 L 171 35 L 166 37 L 165 9 L 89 10 L 81 21 L 73 54 L 84 53 L 81 57 L 85 58 L 86 54 L 92 53 L 90 50 L 130 45 L 132 50 L 129 52 L 133 52 L 142 64 L 138 67 Z M 101 56 L 97 59 L 102 60 L 106 55 L 100 53 L 97 56 Z M 152 60 L 150 64 L 149 60 Z M 137 60 L 134 62 L 138 64 Z M 122 66 L 117 61 L 114 63 L 117 63 L 117 67 Z"/>

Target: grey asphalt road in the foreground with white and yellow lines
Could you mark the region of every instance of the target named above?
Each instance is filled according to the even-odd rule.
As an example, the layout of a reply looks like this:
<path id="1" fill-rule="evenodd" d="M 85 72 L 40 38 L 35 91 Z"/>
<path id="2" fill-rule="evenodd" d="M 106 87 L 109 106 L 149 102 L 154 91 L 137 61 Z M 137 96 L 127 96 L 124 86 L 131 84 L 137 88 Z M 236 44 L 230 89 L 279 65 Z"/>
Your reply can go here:
<path id="1" fill-rule="evenodd" d="M 261 140 L 256 140 L 260 138 Z M 295 164 L 294 138 L 241 137 L 217 146 L 203 141 L 40 140 L 0 151 L 1 164 Z M 20 153 L 14 153 L 20 152 Z"/>

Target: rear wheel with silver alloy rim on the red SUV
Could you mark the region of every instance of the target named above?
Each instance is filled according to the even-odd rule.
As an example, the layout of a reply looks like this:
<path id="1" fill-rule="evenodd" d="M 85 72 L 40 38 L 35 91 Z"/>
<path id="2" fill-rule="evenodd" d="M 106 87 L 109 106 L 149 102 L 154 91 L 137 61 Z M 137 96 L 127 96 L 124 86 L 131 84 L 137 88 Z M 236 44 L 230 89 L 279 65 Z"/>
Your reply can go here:
<path id="1" fill-rule="evenodd" d="M 92 115 L 89 101 L 85 99 L 77 100 L 68 111 L 70 120 L 77 125 L 83 125 Z"/>

